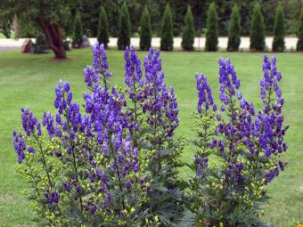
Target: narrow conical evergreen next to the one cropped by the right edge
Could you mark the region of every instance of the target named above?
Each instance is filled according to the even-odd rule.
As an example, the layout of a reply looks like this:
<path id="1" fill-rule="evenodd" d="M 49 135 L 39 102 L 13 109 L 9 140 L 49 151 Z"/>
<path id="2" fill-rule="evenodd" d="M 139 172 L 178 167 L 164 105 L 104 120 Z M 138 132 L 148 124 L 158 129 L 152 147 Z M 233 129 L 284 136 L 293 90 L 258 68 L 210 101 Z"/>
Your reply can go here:
<path id="1" fill-rule="evenodd" d="M 285 50 L 285 24 L 284 24 L 284 12 L 282 4 L 279 4 L 274 17 L 274 41 L 273 51 L 283 52 Z"/>

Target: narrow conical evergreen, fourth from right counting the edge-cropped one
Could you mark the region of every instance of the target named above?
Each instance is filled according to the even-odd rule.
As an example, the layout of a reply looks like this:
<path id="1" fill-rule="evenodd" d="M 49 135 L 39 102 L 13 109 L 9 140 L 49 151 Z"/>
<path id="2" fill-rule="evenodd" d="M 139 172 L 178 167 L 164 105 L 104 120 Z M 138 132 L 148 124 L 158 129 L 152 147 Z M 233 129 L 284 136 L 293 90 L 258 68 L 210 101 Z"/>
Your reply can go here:
<path id="1" fill-rule="evenodd" d="M 228 52 L 237 52 L 241 43 L 241 20 L 240 12 L 237 4 L 233 5 L 233 12 L 228 27 Z"/>

